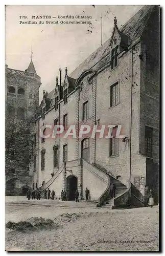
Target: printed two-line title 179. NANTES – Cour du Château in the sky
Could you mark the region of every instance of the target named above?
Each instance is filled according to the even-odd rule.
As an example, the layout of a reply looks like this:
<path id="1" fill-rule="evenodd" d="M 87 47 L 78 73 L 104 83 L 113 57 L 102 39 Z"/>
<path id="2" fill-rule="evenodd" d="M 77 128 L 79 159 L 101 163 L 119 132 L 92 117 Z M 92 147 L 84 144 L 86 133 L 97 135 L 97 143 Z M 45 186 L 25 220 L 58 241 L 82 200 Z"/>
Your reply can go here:
<path id="1" fill-rule="evenodd" d="M 28 20 L 28 16 L 22 15 L 19 16 L 19 24 L 90 24 L 91 16 L 83 16 L 83 15 L 66 15 L 66 16 L 51 16 L 51 15 L 32 15 L 30 19 L 36 20 Z M 41 20 L 42 19 L 42 20 Z M 44 19 L 44 20 L 43 20 Z M 46 19 L 46 20 L 45 20 Z M 52 19 L 52 20 L 50 20 Z M 58 20 L 57 20 L 58 19 Z M 65 20 L 63 20 L 65 19 Z M 68 19 L 68 20 L 66 20 Z M 70 20 L 70 19 L 86 19 L 86 20 Z"/>

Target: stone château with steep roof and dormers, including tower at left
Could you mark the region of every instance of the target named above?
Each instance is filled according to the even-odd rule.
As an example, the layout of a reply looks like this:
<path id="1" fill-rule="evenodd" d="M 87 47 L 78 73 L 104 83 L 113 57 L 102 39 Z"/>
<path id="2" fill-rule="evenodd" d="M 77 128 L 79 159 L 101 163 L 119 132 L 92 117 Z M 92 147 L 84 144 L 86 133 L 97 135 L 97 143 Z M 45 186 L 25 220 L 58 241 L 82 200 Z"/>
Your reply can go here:
<path id="1" fill-rule="evenodd" d="M 49 187 L 57 198 L 66 189 L 67 199 L 74 200 L 76 189 L 84 199 L 88 187 L 90 200 L 110 205 L 142 204 L 152 189 L 158 201 L 159 23 L 159 6 L 145 6 L 121 28 L 114 17 L 112 35 L 98 50 L 71 74 L 67 68 L 72 67 L 59 71 L 54 90 L 43 92 L 35 111 L 32 189 Z M 30 94 L 33 92 L 38 102 L 40 77 L 34 67 L 27 72 L 8 71 L 8 75 L 13 73 L 11 78 L 16 72 L 15 78 L 20 76 L 23 84 L 27 80 L 25 96 L 19 99 L 18 93 L 13 96 L 8 91 L 8 98 L 21 102 L 17 106 L 26 102 L 31 113 Z M 11 84 L 12 80 L 8 88 Z M 61 135 L 44 139 L 40 129 L 46 124 L 63 124 L 64 133 L 75 124 L 77 134 L 82 124 L 98 125 L 98 129 L 113 124 L 113 138 L 91 138 L 88 134 L 83 138 Z M 116 138 L 119 125 L 125 135 L 122 139 Z M 44 134 L 50 134 L 50 129 Z M 116 184 L 114 199 L 109 197 L 112 181 Z"/>

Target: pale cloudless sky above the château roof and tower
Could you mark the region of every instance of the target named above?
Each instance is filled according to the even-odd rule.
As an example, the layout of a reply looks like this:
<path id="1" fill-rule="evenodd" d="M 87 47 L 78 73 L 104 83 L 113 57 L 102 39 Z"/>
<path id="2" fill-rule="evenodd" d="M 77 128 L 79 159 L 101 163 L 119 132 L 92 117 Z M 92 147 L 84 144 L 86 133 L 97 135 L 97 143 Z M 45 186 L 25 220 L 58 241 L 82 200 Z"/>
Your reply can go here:
<path id="1" fill-rule="evenodd" d="M 6 64 L 9 68 L 25 71 L 31 60 L 31 42 L 33 63 L 37 74 L 41 77 L 40 100 L 43 89 L 50 92 L 55 88 L 55 77 L 59 76 L 59 68 L 67 67 L 68 74 L 72 73 L 80 63 L 101 45 L 101 13 L 102 13 L 102 42 L 111 37 L 114 16 L 117 18 L 119 29 L 143 6 L 6 6 Z M 84 12 L 83 12 L 84 11 Z M 83 15 L 92 16 L 88 24 L 44 24 L 20 25 L 20 15 Z M 64 21 L 87 21 L 87 19 L 41 19 Z M 92 31 L 88 33 L 87 30 Z"/>

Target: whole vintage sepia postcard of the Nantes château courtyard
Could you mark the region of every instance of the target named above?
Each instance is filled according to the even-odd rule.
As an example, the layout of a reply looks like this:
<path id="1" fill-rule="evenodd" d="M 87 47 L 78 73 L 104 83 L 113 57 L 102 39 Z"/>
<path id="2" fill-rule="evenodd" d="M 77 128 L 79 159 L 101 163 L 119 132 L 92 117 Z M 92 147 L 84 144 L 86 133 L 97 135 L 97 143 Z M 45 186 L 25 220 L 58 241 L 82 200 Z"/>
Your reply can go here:
<path id="1" fill-rule="evenodd" d="M 159 251 L 160 6 L 5 25 L 6 251 Z"/>

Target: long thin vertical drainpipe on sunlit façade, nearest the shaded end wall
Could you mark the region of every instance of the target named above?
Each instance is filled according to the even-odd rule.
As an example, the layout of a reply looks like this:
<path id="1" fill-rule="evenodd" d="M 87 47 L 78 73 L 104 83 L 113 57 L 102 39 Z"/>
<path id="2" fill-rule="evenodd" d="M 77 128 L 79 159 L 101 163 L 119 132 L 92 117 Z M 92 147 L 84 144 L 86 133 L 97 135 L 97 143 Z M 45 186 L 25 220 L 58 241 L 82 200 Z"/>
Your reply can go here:
<path id="1" fill-rule="evenodd" d="M 130 113 L 130 159 L 129 159 L 129 181 L 131 181 L 131 139 L 132 139 L 132 88 L 133 88 L 133 48 L 131 51 L 131 113 Z"/>

